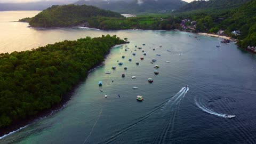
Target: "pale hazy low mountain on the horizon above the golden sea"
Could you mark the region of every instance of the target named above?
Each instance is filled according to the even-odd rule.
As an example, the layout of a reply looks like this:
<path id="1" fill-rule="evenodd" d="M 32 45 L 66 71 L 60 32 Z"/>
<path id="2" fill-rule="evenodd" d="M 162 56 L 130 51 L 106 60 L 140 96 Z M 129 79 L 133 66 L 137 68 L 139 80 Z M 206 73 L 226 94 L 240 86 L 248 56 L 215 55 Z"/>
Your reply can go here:
<path id="1" fill-rule="evenodd" d="M 31 3 L 0 3 L 0 11 L 42 11 L 52 5 L 63 5 L 65 2 L 45 1 Z"/>

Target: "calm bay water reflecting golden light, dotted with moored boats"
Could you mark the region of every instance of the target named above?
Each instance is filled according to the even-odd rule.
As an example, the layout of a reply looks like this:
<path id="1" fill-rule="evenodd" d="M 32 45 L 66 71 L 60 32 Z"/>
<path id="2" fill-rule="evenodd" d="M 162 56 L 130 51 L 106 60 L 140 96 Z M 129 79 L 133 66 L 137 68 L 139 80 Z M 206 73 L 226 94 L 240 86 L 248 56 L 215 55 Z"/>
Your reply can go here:
<path id="1" fill-rule="evenodd" d="M 10 22 L 36 13 L 0 12 L 1 53 L 107 34 L 127 37 L 131 43 L 114 47 L 65 108 L 0 143 L 256 143 L 255 55 L 237 49 L 234 43 L 221 44 L 221 39 L 185 32 L 33 29 L 27 23 Z M 124 51 L 126 47 L 130 49 Z M 157 59 L 154 64 L 150 63 L 153 58 Z M 124 65 L 118 66 L 117 61 Z M 160 66 L 158 75 L 154 65 Z M 147 82 L 149 77 L 154 83 Z M 103 82 L 103 92 L 98 81 Z M 145 100 L 138 102 L 137 95 Z"/>

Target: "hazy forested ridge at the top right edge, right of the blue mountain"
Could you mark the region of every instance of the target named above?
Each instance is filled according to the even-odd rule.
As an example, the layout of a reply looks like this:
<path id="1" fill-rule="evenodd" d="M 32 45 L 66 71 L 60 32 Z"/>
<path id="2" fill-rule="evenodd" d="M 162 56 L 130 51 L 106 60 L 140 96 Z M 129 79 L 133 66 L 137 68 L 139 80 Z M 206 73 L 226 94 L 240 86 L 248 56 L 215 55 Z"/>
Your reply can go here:
<path id="1" fill-rule="evenodd" d="M 251 0 L 209 0 L 193 1 L 180 7 L 179 12 L 194 10 L 227 10 L 239 7 Z"/>

